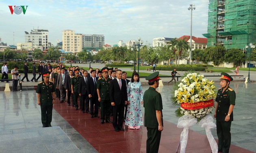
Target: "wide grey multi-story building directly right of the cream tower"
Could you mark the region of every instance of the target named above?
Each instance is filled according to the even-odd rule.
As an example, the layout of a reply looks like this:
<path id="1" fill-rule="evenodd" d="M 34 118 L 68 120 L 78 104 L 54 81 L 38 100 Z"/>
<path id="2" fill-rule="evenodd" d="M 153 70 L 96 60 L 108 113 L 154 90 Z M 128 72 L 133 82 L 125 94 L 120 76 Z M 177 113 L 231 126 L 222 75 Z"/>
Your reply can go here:
<path id="1" fill-rule="evenodd" d="M 103 34 L 83 34 L 82 47 L 89 48 L 102 48 L 105 43 Z"/>

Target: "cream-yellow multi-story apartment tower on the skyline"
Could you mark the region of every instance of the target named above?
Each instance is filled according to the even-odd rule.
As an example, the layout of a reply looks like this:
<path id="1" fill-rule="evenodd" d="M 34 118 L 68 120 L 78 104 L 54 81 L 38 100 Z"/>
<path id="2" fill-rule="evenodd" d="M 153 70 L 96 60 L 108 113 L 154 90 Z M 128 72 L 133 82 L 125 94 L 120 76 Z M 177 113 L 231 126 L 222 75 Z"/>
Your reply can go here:
<path id="1" fill-rule="evenodd" d="M 82 51 L 82 34 L 75 34 L 74 30 L 63 30 L 62 45 L 65 52 L 78 53 Z"/>

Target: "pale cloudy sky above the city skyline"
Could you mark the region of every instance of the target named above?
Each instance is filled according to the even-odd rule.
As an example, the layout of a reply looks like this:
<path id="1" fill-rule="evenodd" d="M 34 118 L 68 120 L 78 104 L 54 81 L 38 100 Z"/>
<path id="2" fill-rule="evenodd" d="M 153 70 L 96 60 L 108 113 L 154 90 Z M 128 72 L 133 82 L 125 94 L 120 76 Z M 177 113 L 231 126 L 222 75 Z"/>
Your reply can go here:
<path id="1" fill-rule="evenodd" d="M 63 30 L 104 34 L 105 44 L 137 39 L 152 44 L 156 37 L 190 35 L 189 4 L 193 10 L 193 36 L 207 33 L 208 0 L 0 0 L 0 37 L 7 45 L 24 43 L 24 31 L 49 30 L 56 45 Z M 28 5 L 17 15 L 9 6 Z"/>

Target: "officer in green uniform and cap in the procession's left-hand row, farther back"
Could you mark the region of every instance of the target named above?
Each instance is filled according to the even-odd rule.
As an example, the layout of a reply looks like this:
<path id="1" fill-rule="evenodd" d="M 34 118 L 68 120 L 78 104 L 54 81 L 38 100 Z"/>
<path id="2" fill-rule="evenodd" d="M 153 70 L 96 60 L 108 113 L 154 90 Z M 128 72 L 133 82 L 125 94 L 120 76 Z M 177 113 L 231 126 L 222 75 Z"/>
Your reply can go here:
<path id="1" fill-rule="evenodd" d="M 79 75 L 80 70 L 76 69 L 75 71 L 75 76 L 71 77 L 70 84 L 71 84 L 71 93 L 74 94 L 74 105 L 75 109 L 78 110 L 78 87 L 79 87 L 79 79 L 82 78 L 82 76 Z"/>

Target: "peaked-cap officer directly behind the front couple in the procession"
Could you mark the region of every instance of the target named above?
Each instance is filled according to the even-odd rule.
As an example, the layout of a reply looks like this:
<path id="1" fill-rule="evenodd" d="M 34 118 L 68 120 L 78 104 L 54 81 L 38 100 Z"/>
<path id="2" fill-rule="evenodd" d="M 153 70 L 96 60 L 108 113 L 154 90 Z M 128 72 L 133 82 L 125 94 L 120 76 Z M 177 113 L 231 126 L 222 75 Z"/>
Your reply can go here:
<path id="1" fill-rule="evenodd" d="M 98 100 L 100 102 L 100 123 L 103 124 L 106 120 L 107 123 L 112 123 L 110 121 L 110 95 L 109 86 L 111 78 L 108 77 L 108 68 L 102 68 L 102 77 L 97 81 L 97 94 Z"/>

